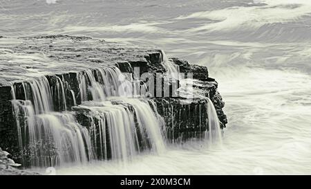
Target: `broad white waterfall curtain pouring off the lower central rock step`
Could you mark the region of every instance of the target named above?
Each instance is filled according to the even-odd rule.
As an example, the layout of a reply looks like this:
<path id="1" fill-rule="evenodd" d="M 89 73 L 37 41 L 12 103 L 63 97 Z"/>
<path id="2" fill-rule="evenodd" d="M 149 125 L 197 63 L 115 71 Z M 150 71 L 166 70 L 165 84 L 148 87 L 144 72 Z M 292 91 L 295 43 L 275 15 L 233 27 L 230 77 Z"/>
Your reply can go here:
<path id="1" fill-rule="evenodd" d="M 149 102 L 120 97 L 108 100 L 79 105 L 79 108 L 88 110 L 86 116 L 93 120 L 91 135 L 93 143 L 98 144 L 95 151 L 100 159 L 127 161 L 142 150 L 164 151 L 161 134 L 164 123 Z"/>

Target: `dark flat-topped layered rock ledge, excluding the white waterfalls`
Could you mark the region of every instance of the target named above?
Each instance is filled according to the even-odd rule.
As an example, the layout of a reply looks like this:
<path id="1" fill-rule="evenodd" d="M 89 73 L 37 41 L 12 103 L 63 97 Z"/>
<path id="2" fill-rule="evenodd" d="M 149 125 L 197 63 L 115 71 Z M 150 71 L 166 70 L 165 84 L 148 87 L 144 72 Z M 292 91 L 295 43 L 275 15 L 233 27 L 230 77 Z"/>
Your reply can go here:
<path id="1" fill-rule="evenodd" d="M 12 87 L 16 89 L 17 100 L 26 100 L 28 81 L 44 76 L 53 90 L 59 89 L 59 80 L 64 84 L 64 98 L 53 93 L 53 111 L 73 111 L 79 123 L 88 127 L 84 109 L 77 108 L 82 103 L 79 89 L 79 75 L 86 75 L 100 69 L 118 68 L 122 73 L 135 76 L 135 67 L 140 69 L 139 75 L 150 73 L 166 73 L 162 64 L 163 53 L 158 49 L 146 49 L 105 42 L 91 37 L 75 37 L 68 35 L 49 35 L 39 37 L 0 39 L 0 146 L 13 154 L 12 159 L 20 160 L 17 121 L 12 111 Z M 169 83 L 169 96 L 157 97 L 151 93 L 146 99 L 156 103 L 156 111 L 166 123 L 162 131 L 169 140 L 186 140 L 200 136 L 207 127 L 207 101 L 209 98 L 216 108 L 220 127 L 225 127 L 227 118 L 223 112 L 225 103 L 218 93 L 218 83 L 209 78 L 205 66 L 189 64 L 176 57 L 169 59 L 171 64 L 179 67 L 181 73 L 193 73 L 195 94 L 187 96 L 173 95 L 173 84 Z M 60 79 L 61 78 L 61 79 Z M 95 77 L 95 80 L 98 78 Z M 140 81 L 142 84 L 146 80 Z M 180 80 L 176 81 L 180 87 Z M 141 84 L 141 85 L 142 85 Z M 163 89 L 163 88 L 162 88 Z M 163 90 L 164 91 L 164 90 Z M 88 94 L 89 95 L 89 94 Z M 28 99 L 34 101 L 34 99 Z"/>

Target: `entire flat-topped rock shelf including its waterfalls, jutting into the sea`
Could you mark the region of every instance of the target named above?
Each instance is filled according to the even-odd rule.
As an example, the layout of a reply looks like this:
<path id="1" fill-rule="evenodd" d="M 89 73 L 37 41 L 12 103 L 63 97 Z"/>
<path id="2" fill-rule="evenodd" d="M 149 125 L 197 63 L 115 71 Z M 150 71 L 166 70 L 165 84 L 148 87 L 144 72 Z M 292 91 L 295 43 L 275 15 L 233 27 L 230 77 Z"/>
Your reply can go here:
<path id="1" fill-rule="evenodd" d="M 155 91 L 128 98 L 118 91 L 120 75 L 130 75 L 138 91 L 145 89 L 147 80 L 135 80 L 135 68 L 139 76 L 156 76 L 169 71 L 164 61 L 193 74 L 192 98 L 174 95 L 172 82 L 165 80 L 168 96 Z M 176 89 L 181 83 L 177 80 Z M 23 167 L 158 152 L 165 143 L 211 132 L 209 103 L 220 129 L 225 127 L 217 88 L 207 67 L 165 60 L 158 49 L 69 35 L 1 37 L 0 147 Z"/>

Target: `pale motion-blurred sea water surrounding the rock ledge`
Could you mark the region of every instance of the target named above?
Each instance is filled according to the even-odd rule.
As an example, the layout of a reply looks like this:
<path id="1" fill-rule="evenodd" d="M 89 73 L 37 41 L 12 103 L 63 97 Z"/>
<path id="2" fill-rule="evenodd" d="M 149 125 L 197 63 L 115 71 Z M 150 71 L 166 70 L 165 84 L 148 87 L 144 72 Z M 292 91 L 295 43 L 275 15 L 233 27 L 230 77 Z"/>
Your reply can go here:
<path id="1" fill-rule="evenodd" d="M 189 141 L 56 174 L 311 174 L 311 1 L 0 1 L 0 35 L 42 34 L 151 46 L 208 66 L 229 122 L 223 144 Z"/>

